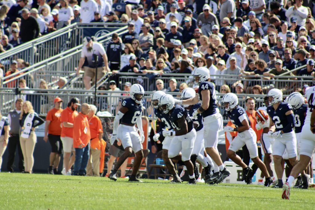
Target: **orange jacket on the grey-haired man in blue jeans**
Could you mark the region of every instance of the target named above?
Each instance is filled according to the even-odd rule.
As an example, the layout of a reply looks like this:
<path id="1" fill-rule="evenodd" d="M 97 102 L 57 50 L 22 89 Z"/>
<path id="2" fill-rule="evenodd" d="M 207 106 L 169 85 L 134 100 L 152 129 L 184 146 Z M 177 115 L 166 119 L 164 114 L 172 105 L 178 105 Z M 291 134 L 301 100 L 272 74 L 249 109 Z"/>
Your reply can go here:
<path id="1" fill-rule="evenodd" d="M 91 133 L 87 115 L 79 112 L 79 115 L 74 118 L 73 122 L 73 147 L 78 148 L 81 144 L 83 144 L 82 147 L 85 147 L 89 144 L 90 139 Z"/>

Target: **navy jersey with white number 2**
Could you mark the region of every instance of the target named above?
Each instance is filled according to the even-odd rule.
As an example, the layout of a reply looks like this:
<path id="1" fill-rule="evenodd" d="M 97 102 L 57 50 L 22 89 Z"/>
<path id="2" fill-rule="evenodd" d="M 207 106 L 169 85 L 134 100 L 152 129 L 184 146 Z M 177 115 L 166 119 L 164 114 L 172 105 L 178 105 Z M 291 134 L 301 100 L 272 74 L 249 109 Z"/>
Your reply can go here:
<path id="1" fill-rule="evenodd" d="M 285 113 L 290 110 L 292 110 L 292 106 L 285 102 L 281 102 L 277 110 L 274 110 L 272 105 L 267 107 L 267 113 L 275 124 L 276 131 L 281 131 L 288 125 L 289 122 Z M 294 127 L 294 125 L 292 125 L 292 127 Z M 286 133 L 290 133 L 291 131 L 292 129 Z"/>

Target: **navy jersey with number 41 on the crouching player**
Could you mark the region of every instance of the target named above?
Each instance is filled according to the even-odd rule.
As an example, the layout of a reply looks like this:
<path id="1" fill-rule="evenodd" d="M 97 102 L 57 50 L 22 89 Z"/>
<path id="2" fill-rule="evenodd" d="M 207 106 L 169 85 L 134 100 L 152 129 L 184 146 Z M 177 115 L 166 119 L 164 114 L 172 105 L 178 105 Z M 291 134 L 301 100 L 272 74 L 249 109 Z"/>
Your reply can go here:
<path id="1" fill-rule="evenodd" d="M 187 133 L 189 133 L 193 128 L 193 122 L 192 122 L 192 119 L 187 114 L 186 110 L 182 106 L 175 104 L 175 107 L 172 113 L 168 113 L 168 117 L 169 117 L 170 122 L 172 123 L 173 129 L 176 131 L 180 130 L 177 120 L 180 119 L 182 116 L 184 116 L 186 119 L 187 126 L 188 126 Z"/>

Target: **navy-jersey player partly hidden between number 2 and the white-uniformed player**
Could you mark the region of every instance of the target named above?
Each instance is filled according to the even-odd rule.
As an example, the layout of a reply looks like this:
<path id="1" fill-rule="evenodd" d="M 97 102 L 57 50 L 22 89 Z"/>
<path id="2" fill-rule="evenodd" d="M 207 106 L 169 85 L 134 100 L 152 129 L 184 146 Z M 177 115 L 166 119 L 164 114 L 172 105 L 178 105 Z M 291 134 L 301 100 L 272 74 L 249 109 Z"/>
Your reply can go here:
<path id="1" fill-rule="evenodd" d="M 305 98 L 299 92 L 293 92 L 287 98 L 288 103 L 293 108 L 293 114 L 295 119 L 295 136 L 297 141 L 297 160 L 300 160 L 300 147 L 301 147 L 301 132 L 304 125 L 306 112 L 307 112 L 307 104 L 305 104 Z M 302 183 L 302 177 L 298 176 L 297 181 L 294 187 L 305 188 L 308 183 Z"/>

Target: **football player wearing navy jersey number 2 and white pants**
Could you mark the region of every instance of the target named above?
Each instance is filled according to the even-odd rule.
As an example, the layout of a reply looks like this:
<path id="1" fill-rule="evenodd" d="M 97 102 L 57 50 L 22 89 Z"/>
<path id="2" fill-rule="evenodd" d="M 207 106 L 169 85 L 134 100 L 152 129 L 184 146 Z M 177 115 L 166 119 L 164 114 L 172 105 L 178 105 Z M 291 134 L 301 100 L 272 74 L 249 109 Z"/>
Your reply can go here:
<path id="1" fill-rule="evenodd" d="M 271 119 L 268 135 L 275 139 L 272 144 L 272 156 L 278 184 L 273 187 L 282 188 L 283 169 L 281 160 L 285 149 L 288 152 L 291 165 L 295 166 L 297 164 L 296 137 L 293 131 L 295 120 L 292 106 L 282 102 L 281 90 L 277 88 L 271 89 L 266 96 L 269 101 L 267 113 Z"/>

